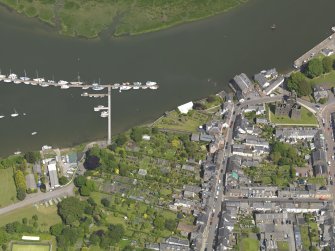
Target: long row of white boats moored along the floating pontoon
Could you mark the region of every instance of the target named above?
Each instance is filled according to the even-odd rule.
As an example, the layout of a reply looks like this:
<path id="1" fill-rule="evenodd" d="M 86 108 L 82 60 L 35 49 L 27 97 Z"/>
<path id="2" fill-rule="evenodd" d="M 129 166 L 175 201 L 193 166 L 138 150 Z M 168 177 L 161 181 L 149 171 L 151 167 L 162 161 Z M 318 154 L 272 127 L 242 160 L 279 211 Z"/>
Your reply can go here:
<path id="1" fill-rule="evenodd" d="M 15 73 L 10 73 L 8 76 L 0 74 L 0 81 L 3 81 L 5 83 L 14 83 L 14 84 L 27 84 L 27 85 L 39 85 L 42 87 L 48 87 L 48 86 L 59 86 L 61 89 L 68 89 L 71 86 L 81 87 L 82 89 L 89 89 L 91 88 L 94 91 L 101 91 L 104 88 L 106 88 L 106 85 L 101 85 L 100 83 L 92 83 L 92 84 L 86 84 L 84 82 L 81 82 L 79 77 L 78 81 L 74 82 L 68 82 L 65 80 L 59 80 L 58 82 L 55 82 L 54 80 L 45 80 L 44 78 L 34 78 L 30 79 L 26 76 L 26 73 L 24 74 L 24 77 L 18 77 Z M 125 82 L 122 84 L 115 83 L 110 85 L 112 89 L 119 89 L 120 91 L 126 91 L 130 89 L 152 89 L 156 90 L 158 89 L 158 85 L 156 82 L 153 81 L 147 81 L 145 84 L 142 84 L 141 82 L 134 82 L 129 83 Z"/>

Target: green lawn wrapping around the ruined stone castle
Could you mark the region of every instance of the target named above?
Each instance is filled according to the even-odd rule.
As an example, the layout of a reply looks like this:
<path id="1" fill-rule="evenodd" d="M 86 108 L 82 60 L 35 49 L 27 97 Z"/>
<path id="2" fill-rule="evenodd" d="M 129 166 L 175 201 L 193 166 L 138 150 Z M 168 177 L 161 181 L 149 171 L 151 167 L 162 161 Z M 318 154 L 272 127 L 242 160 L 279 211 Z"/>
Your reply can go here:
<path id="1" fill-rule="evenodd" d="M 269 120 L 276 125 L 310 125 L 310 126 L 318 125 L 316 117 L 305 107 L 301 107 L 300 119 L 292 119 L 289 118 L 288 116 L 276 116 L 273 112 L 273 106 L 270 107 L 270 109 L 268 109 L 268 113 L 269 113 Z"/>

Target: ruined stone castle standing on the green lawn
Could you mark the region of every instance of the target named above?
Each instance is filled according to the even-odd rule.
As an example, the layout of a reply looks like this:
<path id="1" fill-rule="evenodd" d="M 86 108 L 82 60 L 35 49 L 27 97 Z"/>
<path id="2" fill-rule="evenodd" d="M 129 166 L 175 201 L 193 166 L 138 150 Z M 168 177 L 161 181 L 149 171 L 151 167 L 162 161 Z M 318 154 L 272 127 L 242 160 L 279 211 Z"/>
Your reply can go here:
<path id="1" fill-rule="evenodd" d="M 275 115 L 288 116 L 293 119 L 301 118 L 301 106 L 297 103 L 297 96 L 294 92 L 287 99 L 276 103 Z"/>

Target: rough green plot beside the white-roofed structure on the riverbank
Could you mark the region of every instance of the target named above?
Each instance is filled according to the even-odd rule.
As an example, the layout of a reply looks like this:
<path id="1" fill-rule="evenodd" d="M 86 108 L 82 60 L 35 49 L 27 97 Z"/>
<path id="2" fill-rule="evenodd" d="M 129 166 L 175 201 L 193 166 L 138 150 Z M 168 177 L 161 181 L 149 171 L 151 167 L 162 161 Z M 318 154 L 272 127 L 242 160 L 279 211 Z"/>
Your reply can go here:
<path id="1" fill-rule="evenodd" d="M 167 116 L 158 119 L 154 125 L 161 129 L 196 132 L 199 126 L 205 124 L 208 120 L 209 115 L 195 110 L 189 112 L 187 115 L 172 111 Z"/>

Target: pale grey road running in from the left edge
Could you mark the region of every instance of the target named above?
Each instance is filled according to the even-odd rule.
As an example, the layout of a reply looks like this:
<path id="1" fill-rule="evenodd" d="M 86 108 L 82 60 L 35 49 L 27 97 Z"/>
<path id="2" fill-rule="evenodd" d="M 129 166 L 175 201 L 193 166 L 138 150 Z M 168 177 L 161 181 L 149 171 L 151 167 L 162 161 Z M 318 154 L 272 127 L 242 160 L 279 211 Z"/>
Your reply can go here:
<path id="1" fill-rule="evenodd" d="M 26 198 L 23 201 L 20 201 L 18 203 L 9 205 L 7 207 L 0 208 L 0 215 L 11 212 L 13 210 L 26 207 L 35 203 L 40 203 L 44 202 L 47 200 L 50 200 L 52 198 L 57 198 L 57 197 L 62 197 L 62 196 L 71 196 L 73 195 L 73 188 L 74 185 L 73 183 L 70 183 L 69 185 L 59 188 L 57 190 L 54 190 L 52 192 L 47 192 L 47 193 L 39 193 L 34 197 Z"/>

